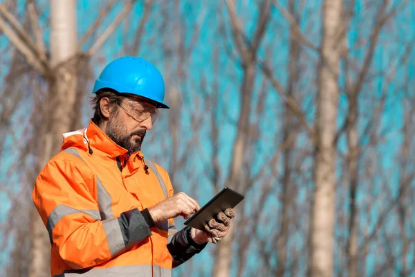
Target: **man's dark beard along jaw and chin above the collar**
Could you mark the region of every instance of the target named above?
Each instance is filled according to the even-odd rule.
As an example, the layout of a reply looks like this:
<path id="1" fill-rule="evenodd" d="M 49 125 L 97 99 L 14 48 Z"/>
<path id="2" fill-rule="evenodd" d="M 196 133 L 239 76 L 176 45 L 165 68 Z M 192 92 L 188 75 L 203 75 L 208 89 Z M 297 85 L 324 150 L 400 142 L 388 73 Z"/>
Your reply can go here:
<path id="1" fill-rule="evenodd" d="M 114 120 L 109 120 L 105 134 L 128 152 L 138 152 L 141 150 L 141 143 L 145 137 L 145 129 L 127 134 L 127 128 L 117 118 L 114 118 Z M 138 136 L 136 139 L 131 139 L 134 135 Z"/>

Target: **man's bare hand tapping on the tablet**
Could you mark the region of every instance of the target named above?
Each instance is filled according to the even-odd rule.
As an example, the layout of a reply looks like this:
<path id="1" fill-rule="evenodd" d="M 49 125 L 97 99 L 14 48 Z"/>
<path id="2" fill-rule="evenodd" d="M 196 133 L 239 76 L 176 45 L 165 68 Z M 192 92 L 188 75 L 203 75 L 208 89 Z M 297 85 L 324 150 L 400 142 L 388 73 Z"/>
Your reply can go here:
<path id="1" fill-rule="evenodd" d="M 187 219 L 200 208 L 201 206 L 192 197 L 178 193 L 149 208 L 149 213 L 154 222 L 162 222 L 179 215 Z"/>

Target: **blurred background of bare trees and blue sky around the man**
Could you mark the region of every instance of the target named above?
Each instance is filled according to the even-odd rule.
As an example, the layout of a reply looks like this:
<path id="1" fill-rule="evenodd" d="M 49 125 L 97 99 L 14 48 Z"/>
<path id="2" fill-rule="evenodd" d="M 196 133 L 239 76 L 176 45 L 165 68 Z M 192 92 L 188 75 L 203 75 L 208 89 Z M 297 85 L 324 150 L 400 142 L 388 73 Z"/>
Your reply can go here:
<path id="1" fill-rule="evenodd" d="M 246 195 L 174 276 L 415 276 L 413 0 L 0 2 L 1 276 L 50 276 L 33 184 L 122 55 L 165 78 L 176 192 Z"/>

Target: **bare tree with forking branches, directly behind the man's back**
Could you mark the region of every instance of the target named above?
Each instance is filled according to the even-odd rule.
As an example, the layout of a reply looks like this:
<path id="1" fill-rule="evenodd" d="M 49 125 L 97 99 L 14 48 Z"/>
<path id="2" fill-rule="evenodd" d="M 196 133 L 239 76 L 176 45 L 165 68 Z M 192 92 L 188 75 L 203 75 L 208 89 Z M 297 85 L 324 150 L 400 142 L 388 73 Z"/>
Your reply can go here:
<path id="1" fill-rule="evenodd" d="M 76 123 L 80 123 L 80 105 L 77 101 L 79 96 L 77 84 L 77 71 L 80 61 L 88 59 L 104 44 L 109 35 L 113 33 L 121 19 L 131 10 L 132 2 L 127 1 L 124 10 L 114 19 L 112 24 L 104 30 L 102 36 L 86 51 L 79 52 L 77 47 L 77 19 L 76 0 L 50 0 L 50 57 L 46 55 L 46 46 L 43 34 L 39 28 L 39 18 L 34 1 L 28 1 L 28 17 L 31 21 L 33 37 L 30 35 L 17 19 L 0 4 L 0 29 L 10 39 L 10 42 L 24 56 L 26 62 L 32 69 L 44 78 L 48 84 L 46 95 L 38 94 L 35 98 L 44 97 L 44 101 L 37 102 L 35 109 L 40 111 L 33 114 L 37 130 L 37 148 L 34 154 L 39 157 L 35 168 L 39 172 L 48 159 L 59 152 L 62 143 L 62 134 L 68 132 Z M 109 10 L 107 10 L 109 12 Z M 104 17 L 107 12 L 103 12 Z M 98 18 L 98 21 L 101 19 Z M 10 26 L 9 26 L 10 24 Z M 99 24 L 93 24 L 92 28 L 98 28 Z M 85 39 L 93 32 L 87 32 Z M 38 91 L 37 93 L 39 93 Z M 35 102 L 36 104 L 36 102 Z M 41 115 L 39 117 L 39 114 Z M 30 181 L 32 182 L 32 181 Z M 32 208 L 30 211 L 30 265 L 28 267 L 30 276 L 48 276 L 50 243 L 44 224 L 37 212 Z"/>

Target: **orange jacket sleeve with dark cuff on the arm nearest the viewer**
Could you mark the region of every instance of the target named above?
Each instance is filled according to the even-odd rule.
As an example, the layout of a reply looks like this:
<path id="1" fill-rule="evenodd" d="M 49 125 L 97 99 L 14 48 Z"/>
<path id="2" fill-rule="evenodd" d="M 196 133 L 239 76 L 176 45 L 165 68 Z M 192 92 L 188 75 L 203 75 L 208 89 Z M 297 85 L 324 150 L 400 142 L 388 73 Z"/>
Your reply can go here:
<path id="1" fill-rule="evenodd" d="M 134 208 L 102 220 L 93 198 L 95 175 L 71 160 L 53 159 L 39 174 L 33 202 L 48 229 L 50 243 L 73 269 L 106 262 L 151 235 L 145 211 Z M 148 213 L 148 211 L 147 211 Z"/>

